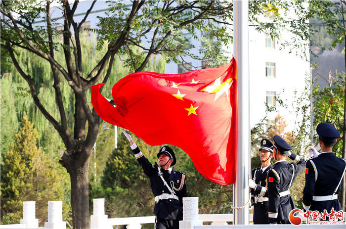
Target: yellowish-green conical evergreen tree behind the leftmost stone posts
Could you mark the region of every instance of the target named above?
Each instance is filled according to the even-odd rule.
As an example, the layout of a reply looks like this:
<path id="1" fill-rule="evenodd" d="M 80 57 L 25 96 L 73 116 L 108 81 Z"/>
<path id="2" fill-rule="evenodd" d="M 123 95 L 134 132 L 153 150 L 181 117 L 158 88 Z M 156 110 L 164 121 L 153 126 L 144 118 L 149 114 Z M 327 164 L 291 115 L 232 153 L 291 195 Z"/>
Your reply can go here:
<path id="1" fill-rule="evenodd" d="M 36 217 L 43 226 L 47 222 L 47 199 L 61 200 L 63 191 L 57 163 L 42 147 L 37 147 L 38 131 L 33 126 L 24 113 L 19 134 L 14 135 L 15 141 L 7 153 L 1 153 L 1 220 L 19 221 L 23 201 L 36 201 Z M 68 205 L 64 205 L 64 210 L 64 213 L 69 211 Z"/>

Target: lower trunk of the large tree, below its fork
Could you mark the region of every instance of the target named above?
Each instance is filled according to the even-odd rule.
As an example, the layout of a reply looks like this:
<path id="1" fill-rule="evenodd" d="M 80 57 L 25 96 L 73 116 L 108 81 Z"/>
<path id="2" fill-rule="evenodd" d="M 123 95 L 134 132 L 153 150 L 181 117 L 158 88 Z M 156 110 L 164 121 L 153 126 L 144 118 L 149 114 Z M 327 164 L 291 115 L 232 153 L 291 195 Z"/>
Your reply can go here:
<path id="1" fill-rule="evenodd" d="M 71 163 L 74 168 L 71 168 L 71 207 L 72 219 L 74 229 L 89 229 L 90 216 L 89 216 L 89 184 L 88 184 L 88 169 L 89 160 L 80 165 L 80 157 L 86 152 L 78 153 L 74 159 L 75 162 Z"/>

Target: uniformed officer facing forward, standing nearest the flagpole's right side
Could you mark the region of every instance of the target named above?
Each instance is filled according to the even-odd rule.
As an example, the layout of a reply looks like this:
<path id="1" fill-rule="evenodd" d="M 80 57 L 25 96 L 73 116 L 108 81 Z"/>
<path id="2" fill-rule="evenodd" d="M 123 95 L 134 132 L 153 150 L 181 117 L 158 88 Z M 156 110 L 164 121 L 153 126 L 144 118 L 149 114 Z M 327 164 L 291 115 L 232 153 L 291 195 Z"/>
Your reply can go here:
<path id="1" fill-rule="evenodd" d="M 268 139 L 260 141 L 260 160 L 262 165 L 252 170 L 252 179 L 249 181 L 251 187 L 251 205 L 254 206 L 254 224 L 268 224 L 268 192 L 265 180 L 267 172 L 271 169 L 270 159 L 273 157 L 273 143 Z"/>

